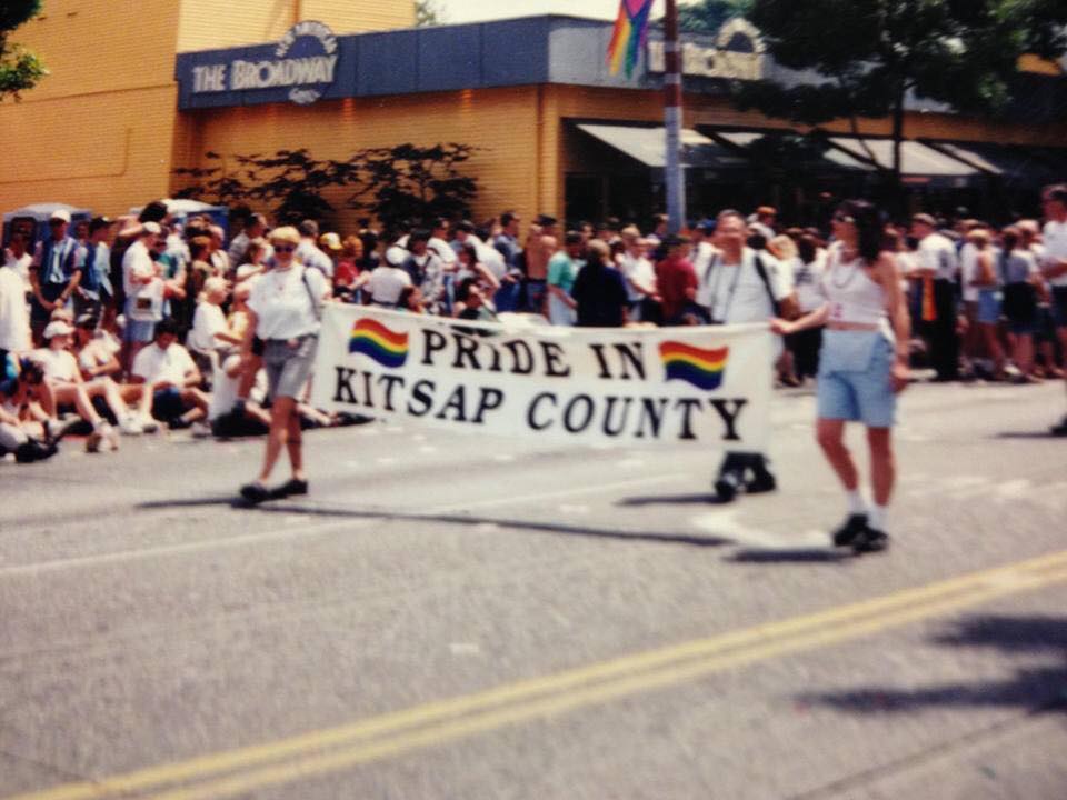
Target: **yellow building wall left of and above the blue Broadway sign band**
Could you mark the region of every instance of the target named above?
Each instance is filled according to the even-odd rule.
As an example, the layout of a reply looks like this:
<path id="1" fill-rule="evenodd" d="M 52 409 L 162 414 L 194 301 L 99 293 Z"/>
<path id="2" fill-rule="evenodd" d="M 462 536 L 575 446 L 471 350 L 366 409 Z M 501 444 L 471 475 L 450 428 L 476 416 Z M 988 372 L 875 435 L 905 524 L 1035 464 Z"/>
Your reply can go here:
<path id="1" fill-rule="evenodd" d="M 50 74 L 0 103 L 0 210 L 60 201 L 118 214 L 164 197 L 202 137 L 178 113 L 174 56 L 277 39 L 296 20 L 338 33 L 410 26 L 410 0 L 48 0 L 12 41 Z"/>

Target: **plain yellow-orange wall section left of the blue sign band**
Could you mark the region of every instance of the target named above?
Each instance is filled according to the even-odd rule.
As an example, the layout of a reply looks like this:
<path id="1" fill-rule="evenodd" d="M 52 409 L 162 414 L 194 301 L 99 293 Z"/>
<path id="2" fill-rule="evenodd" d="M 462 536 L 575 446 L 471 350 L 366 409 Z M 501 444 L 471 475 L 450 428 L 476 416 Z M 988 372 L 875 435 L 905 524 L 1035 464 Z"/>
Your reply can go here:
<path id="1" fill-rule="evenodd" d="M 0 209 L 60 201 L 119 213 L 166 193 L 177 0 L 49 0 L 14 41 L 50 74 L 0 103 Z"/>

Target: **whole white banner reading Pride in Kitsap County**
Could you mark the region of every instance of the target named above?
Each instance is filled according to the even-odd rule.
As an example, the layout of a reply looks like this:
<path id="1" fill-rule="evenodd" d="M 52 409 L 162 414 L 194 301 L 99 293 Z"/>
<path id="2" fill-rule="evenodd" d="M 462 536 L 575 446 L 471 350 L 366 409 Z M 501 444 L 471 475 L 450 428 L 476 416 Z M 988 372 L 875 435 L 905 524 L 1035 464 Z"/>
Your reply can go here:
<path id="1" fill-rule="evenodd" d="M 316 407 L 512 437 L 762 451 L 766 324 L 558 328 L 325 308 Z"/>

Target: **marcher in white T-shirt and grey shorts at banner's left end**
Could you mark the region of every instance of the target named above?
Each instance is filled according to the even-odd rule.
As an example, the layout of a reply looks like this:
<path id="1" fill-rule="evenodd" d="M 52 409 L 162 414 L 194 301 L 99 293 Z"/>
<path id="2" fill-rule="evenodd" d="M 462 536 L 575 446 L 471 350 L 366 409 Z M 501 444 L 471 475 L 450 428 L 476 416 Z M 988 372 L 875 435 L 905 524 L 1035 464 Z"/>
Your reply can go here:
<path id="1" fill-rule="evenodd" d="M 296 228 L 276 228 L 270 233 L 270 243 L 275 249 L 275 266 L 252 287 L 241 351 L 247 359 L 253 336 L 262 340 L 271 401 L 262 469 L 255 481 L 241 487 L 241 497 L 250 503 L 308 493 L 297 398 L 311 376 L 322 303 L 329 299 L 329 284 L 322 272 L 296 259 L 300 244 Z M 267 481 L 282 447 L 289 453 L 292 477 L 282 486 L 268 489 Z"/>

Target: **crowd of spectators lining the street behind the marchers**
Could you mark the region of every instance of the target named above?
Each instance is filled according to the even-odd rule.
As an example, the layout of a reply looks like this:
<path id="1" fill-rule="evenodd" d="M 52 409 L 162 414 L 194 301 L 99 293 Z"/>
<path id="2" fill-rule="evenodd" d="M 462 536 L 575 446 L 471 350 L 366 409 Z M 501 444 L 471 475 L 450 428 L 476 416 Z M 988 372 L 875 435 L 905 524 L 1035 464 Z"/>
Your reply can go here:
<path id="1" fill-rule="evenodd" d="M 1067 344 L 1067 187 L 1043 196 L 1045 220 L 996 228 L 915 214 L 887 224 L 913 319 L 914 363 L 936 380 L 1037 382 L 1063 377 Z M 318 270 L 332 301 L 492 321 L 527 314 L 554 326 L 766 321 L 820 307 L 826 231 L 781 227 L 775 209 L 742 217 L 751 286 L 720 286 L 712 220 L 667 234 L 607 219 L 562 229 L 513 212 L 475 224 L 435 219 L 358 232 L 298 226 L 295 258 Z M 171 219 L 162 202 L 137 218 L 72 226 L 56 211 L 38 241 L 10 236 L 0 267 L 0 454 L 48 458 L 71 433 L 90 451 L 161 426 L 193 436 L 263 433 L 265 379 L 249 354 L 249 298 L 271 270 L 268 220 Z M 762 297 L 752 319 L 724 310 Z M 818 371 L 820 332 L 791 337 L 777 380 Z M 343 422 L 298 402 L 306 426 Z M 1060 426 L 1063 427 L 1063 426 Z M 1067 430 L 1064 430 L 1067 432 Z"/>

